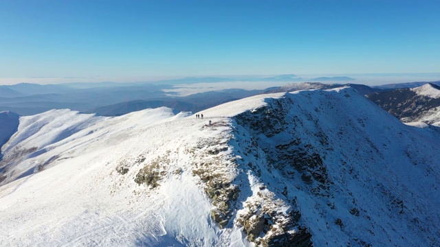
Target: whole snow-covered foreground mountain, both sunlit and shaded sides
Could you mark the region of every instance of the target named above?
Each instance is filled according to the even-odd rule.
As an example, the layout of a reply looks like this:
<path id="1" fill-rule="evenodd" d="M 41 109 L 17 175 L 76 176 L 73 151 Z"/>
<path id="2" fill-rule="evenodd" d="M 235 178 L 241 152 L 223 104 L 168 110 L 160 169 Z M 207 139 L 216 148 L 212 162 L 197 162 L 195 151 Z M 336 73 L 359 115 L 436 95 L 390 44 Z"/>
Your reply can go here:
<path id="1" fill-rule="evenodd" d="M 438 246 L 440 129 L 351 88 L 20 117 L 1 246 Z"/>

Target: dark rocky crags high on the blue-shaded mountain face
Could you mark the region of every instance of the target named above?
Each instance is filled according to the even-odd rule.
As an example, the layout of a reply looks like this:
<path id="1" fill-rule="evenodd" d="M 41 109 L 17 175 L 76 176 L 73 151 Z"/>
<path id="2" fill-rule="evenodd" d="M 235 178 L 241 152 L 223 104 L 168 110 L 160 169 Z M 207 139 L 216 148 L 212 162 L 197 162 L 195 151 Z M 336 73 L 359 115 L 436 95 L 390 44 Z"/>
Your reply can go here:
<path id="1" fill-rule="evenodd" d="M 296 173 L 300 174 L 301 180 L 309 185 L 311 193 L 328 196 L 329 180 L 327 168 L 322 163 L 322 154 L 309 140 L 301 139 L 297 132 L 304 130 L 304 121 L 314 122 L 316 130 L 305 131 L 310 132 L 316 143 L 331 150 L 327 134 L 320 128 L 318 119 L 311 115 L 307 119 L 288 115 L 294 105 L 292 99 L 285 97 L 274 104 L 243 113 L 236 117 L 236 121 L 250 131 L 254 137 L 254 148 L 263 150 L 270 167 L 281 170 L 290 178 L 294 178 Z M 277 134 L 279 137 L 276 137 Z M 261 135 L 265 138 L 259 138 Z"/>

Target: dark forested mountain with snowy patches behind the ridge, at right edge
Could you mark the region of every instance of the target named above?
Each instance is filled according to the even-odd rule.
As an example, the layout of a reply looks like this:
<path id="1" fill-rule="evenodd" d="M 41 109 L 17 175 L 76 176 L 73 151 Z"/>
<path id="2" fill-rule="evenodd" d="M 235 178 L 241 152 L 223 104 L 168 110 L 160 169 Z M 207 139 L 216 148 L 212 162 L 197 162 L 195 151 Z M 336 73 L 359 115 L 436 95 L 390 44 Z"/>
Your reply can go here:
<path id="1" fill-rule="evenodd" d="M 401 121 L 440 125 L 440 86 L 435 84 L 376 92 L 367 97 Z"/>

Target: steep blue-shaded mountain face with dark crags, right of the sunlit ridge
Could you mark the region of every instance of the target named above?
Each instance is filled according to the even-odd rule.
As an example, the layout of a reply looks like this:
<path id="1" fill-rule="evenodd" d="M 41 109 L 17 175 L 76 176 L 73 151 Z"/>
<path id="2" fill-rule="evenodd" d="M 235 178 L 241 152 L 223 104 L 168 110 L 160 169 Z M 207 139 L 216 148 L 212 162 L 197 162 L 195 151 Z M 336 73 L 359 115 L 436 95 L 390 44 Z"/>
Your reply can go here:
<path id="1" fill-rule="evenodd" d="M 439 194 L 438 128 L 421 134 L 353 89 L 287 94 L 234 121 L 234 136 L 243 150 L 239 163 L 248 165 L 262 186 L 289 207 L 289 226 L 268 241 L 263 241 L 265 229 L 272 226 L 267 222 L 274 221 L 267 211 L 256 210 L 251 231 L 238 216 L 256 243 L 439 242 L 434 199 Z M 430 141 L 419 141 L 420 134 Z"/>

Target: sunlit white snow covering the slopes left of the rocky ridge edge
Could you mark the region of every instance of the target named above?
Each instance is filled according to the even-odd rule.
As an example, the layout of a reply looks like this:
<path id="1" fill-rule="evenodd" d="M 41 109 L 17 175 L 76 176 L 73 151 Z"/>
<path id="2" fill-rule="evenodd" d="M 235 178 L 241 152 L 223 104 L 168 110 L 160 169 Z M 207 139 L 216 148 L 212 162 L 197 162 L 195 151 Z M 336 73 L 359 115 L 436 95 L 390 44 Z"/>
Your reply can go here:
<path id="1" fill-rule="evenodd" d="M 63 117 L 64 116 L 64 117 Z M 54 142 L 54 136 L 71 128 L 67 122 L 79 117 L 89 127 Z M 56 118 L 65 119 L 64 123 Z M 50 121 L 52 119 L 52 121 Z M 55 119 L 55 120 L 54 120 Z M 47 132 L 47 121 L 56 134 Z M 39 128 L 29 128 L 36 123 Z M 169 108 L 142 110 L 121 117 L 94 117 L 70 110 L 51 111 L 24 118 L 11 143 L 35 145 L 47 152 L 27 158 L 17 167 L 56 161 L 41 172 L 0 187 L 1 246 L 212 246 L 221 242 L 221 231 L 210 219 L 211 202 L 199 188 L 183 150 L 199 137 L 212 138 L 223 132 L 202 131 L 205 121 L 174 116 Z M 201 130 L 202 129 L 202 130 Z M 31 131 L 34 134 L 25 134 Z M 172 131 L 171 131 L 172 130 Z M 43 131 L 43 133 L 40 133 Z M 93 131 L 93 133 L 88 134 Z M 23 138 L 26 137 L 26 138 Z M 174 152 L 182 150 L 181 152 Z M 129 174 L 115 172 L 120 163 L 133 162 L 142 154 L 146 162 L 170 152 L 167 183 L 155 191 L 133 183 L 140 169 Z M 181 169 L 180 175 L 173 172 Z M 14 231 L 8 231 L 14 229 Z M 228 242 L 241 243 L 239 228 L 228 231 Z M 234 239 L 235 237 L 235 239 Z M 239 237 L 236 239 L 236 237 Z"/>

